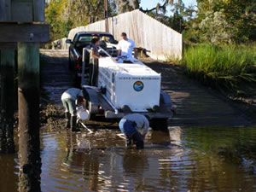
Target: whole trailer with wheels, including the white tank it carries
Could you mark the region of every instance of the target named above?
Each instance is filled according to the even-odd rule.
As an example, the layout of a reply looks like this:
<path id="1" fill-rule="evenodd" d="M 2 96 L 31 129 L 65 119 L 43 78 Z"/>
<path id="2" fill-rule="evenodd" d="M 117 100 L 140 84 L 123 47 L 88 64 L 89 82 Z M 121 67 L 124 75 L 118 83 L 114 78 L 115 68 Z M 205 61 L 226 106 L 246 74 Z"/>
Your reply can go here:
<path id="1" fill-rule="evenodd" d="M 160 89 L 160 73 L 136 58 L 113 57 L 113 52 L 100 48 L 103 57 L 92 59 L 90 49 L 83 49 L 81 87 L 90 117 L 121 119 L 142 113 L 148 115 L 152 128 L 166 128 L 173 115 L 172 99 Z"/>

